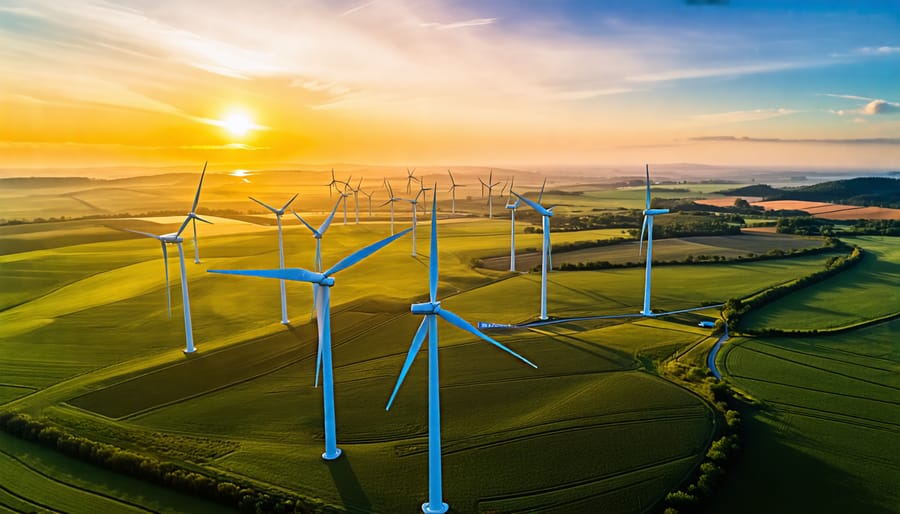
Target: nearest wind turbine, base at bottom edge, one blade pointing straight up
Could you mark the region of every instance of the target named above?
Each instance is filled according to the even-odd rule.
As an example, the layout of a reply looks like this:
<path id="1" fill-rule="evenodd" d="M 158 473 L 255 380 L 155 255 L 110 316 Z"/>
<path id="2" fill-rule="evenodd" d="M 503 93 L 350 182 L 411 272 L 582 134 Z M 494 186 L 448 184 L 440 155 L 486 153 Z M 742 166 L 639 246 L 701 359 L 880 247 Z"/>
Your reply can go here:
<path id="1" fill-rule="evenodd" d="M 441 470 L 441 406 L 440 406 L 440 382 L 438 380 L 438 331 L 437 319 L 444 318 L 444 321 L 454 325 L 462 330 L 474 334 L 481 339 L 493 344 L 501 350 L 509 353 L 513 357 L 521 360 L 533 368 L 537 368 L 531 361 L 522 357 L 518 353 L 510 350 L 503 344 L 491 339 L 486 334 L 472 326 L 468 321 L 458 315 L 445 310 L 441 307 L 441 302 L 437 300 L 438 288 L 438 248 L 437 248 L 437 216 L 435 216 L 435 204 L 432 201 L 431 212 L 431 255 L 428 258 L 428 288 L 430 301 L 425 303 L 415 303 L 410 310 L 413 314 L 425 316 L 416 335 L 413 337 L 412 344 L 409 346 L 409 353 L 406 355 L 406 361 L 400 370 L 400 376 L 397 378 L 397 385 L 388 400 L 385 410 L 390 410 L 400 386 L 403 384 L 413 360 L 422 348 L 425 336 L 428 336 L 428 501 L 422 504 L 422 512 L 443 513 L 447 512 L 449 507 L 443 501 L 442 493 L 442 470 Z"/>

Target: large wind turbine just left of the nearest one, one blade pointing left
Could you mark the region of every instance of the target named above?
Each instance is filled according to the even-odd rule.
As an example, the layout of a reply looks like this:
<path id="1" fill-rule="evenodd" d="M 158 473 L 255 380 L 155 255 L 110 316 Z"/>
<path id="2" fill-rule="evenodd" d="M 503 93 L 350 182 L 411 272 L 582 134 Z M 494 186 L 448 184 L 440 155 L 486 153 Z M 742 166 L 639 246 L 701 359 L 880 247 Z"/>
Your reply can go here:
<path id="1" fill-rule="evenodd" d="M 324 273 L 305 270 L 302 268 L 287 269 L 260 269 L 260 270 L 208 270 L 210 273 L 222 273 L 226 275 L 245 275 L 251 277 L 276 278 L 279 280 L 294 280 L 297 282 L 309 282 L 319 287 L 321 298 L 316 302 L 319 325 L 319 355 L 317 362 L 322 367 L 322 396 L 325 406 L 325 453 L 322 458 L 334 460 L 341 456 L 341 450 L 337 447 L 337 430 L 334 421 L 334 376 L 331 360 L 331 287 L 334 286 L 334 278 L 331 276 L 353 266 L 359 261 L 372 255 L 378 250 L 391 244 L 400 237 L 406 235 L 411 229 L 395 234 L 373 243 L 361 250 L 344 257 L 337 264 Z M 319 364 L 316 364 L 319 367 Z M 318 369 L 316 370 L 318 374 Z"/>

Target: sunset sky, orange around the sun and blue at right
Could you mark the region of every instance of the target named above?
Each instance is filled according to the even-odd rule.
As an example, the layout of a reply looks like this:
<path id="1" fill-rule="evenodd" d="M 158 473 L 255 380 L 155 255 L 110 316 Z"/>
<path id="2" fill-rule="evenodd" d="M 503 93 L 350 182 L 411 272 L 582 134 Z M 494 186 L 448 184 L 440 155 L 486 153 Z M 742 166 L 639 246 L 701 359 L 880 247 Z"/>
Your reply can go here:
<path id="1" fill-rule="evenodd" d="M 900 169 L 900 1 L 0 0 L 0 168 Z"/>

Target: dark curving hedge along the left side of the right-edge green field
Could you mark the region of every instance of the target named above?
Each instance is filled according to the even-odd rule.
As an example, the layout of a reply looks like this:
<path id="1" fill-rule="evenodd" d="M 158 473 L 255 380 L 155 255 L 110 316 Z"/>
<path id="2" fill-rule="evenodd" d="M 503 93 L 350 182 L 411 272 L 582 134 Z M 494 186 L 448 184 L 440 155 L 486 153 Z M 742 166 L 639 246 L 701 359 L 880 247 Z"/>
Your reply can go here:
<path id="1" fill-rule="evenodd" d="M 821 282 L 826 278 L 836 275 L 846 269 L 858 264 L 864 256 L 862 248 L 854 246 L 849 255 L 841 257 L 832 257 L 825 262 L 825 269 L 810 273 L 804 277 L 798 278 L 788 284 L 775 286 L 749 298 L 730 298 L 722 307 L 722 317 L 731 331 L 737 331 L 740 327 L 741 317 L 751 309 L 756 309 L 771 303 L 779 298 L 783 298 L 794 291 L 809 287 L 815 283 Z M 745 331 L 747 334 L 756 334 L 754 331 Z M 767 334 L 789 334 L 790 331 L 773 331 L 769 330 Z"/>

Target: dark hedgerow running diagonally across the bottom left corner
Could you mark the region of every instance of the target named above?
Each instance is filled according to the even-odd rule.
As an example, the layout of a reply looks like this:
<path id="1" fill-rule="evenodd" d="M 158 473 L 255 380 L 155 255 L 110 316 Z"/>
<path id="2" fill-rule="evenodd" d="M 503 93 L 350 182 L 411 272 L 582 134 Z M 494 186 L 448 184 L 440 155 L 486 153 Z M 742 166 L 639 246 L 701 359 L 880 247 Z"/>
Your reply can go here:
<path id="1" fill-rule="evenodd" d="M 222 480 L 171 462 L 92 441 L 27 414 L 0 413 L 0 430 L 117 473 L 218 502 L 245 513 L 341 512 L 318 500 Z"/>

